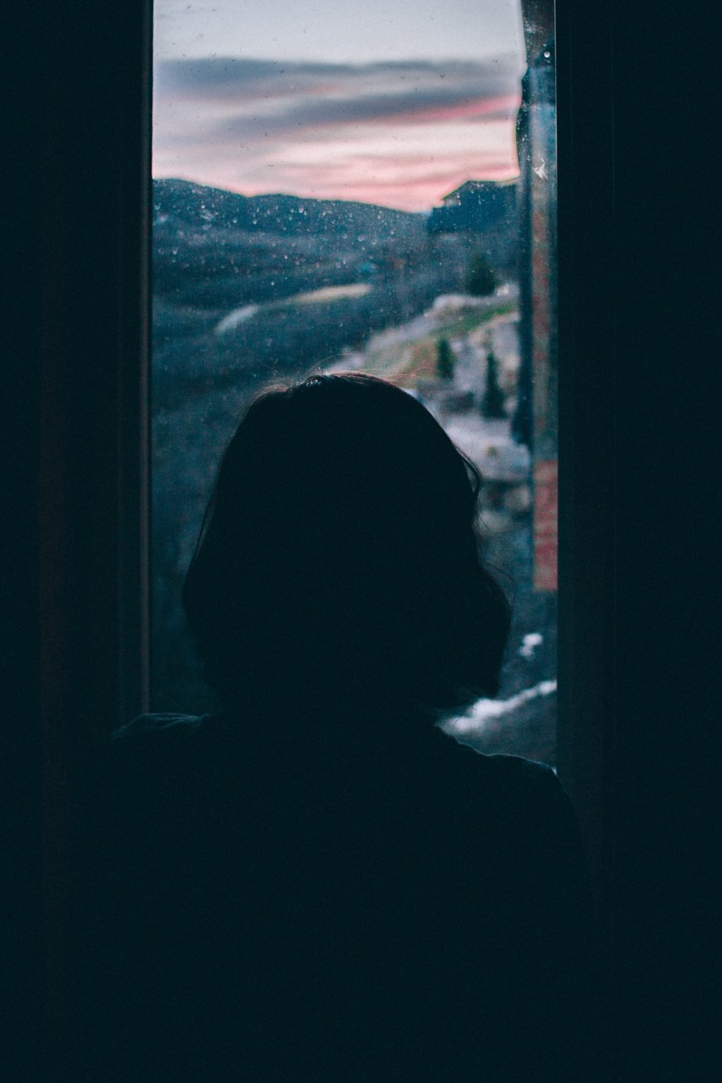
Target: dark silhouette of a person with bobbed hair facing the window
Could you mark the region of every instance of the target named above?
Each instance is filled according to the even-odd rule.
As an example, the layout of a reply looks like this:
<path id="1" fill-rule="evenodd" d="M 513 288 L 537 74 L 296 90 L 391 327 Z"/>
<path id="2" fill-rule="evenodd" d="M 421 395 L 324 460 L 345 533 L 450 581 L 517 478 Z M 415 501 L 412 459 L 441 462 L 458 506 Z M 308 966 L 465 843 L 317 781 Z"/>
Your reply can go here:
<path id="1" fill-rule="evenodd" d="M 509 630 L 477 491 L 381 380 L 248 409 L 184 595 L 224 708 L 140 718 L 105 766 L 89 1077 L 595 1078 L 567 798 L 437 726 Z"/>

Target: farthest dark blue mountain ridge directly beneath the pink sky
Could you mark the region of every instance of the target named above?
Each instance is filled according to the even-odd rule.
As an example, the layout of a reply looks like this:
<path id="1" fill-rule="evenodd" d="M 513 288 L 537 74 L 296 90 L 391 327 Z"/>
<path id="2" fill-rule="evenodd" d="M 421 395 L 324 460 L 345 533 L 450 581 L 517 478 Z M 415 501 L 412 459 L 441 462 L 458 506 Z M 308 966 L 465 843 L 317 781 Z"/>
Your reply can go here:
<path id="1" fill-rule="evenodd" d="M 287 195 L 241 196 L 175 179 L 154 180 L 153 218 L 156 226 L 281 236 L 339 234 L 370 244 L 420 236 L 425 222 L 422 214 L 371 204 Z"/>

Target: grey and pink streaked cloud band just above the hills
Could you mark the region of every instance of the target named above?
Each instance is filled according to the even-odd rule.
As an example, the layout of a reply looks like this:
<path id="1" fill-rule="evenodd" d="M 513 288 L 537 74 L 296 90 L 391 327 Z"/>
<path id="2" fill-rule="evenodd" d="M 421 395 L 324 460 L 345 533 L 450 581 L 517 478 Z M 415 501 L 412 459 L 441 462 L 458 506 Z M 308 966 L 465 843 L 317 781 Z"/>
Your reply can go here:
<path id="1" fill-rule="evenodd" d="M 518 172 L 509 65 L 224 60 L 168 68 L 156 91 L 156 177 L 429 210 Z"/>

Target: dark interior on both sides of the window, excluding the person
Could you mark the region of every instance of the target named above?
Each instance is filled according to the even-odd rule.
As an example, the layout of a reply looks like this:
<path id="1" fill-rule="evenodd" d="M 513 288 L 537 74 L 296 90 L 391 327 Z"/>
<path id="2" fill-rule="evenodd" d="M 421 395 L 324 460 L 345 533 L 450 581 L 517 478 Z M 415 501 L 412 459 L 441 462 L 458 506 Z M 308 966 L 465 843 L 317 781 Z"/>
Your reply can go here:
<path id="1" fill-rule="evenodd" d="M 8 38 L 6 1079 L 75 1078 L 79 765 L 147 702 L 149 6 L 30 5 Z M 719 1061 L 714 14 L 556 4 L 559 773 L 630 1083 Z"/>

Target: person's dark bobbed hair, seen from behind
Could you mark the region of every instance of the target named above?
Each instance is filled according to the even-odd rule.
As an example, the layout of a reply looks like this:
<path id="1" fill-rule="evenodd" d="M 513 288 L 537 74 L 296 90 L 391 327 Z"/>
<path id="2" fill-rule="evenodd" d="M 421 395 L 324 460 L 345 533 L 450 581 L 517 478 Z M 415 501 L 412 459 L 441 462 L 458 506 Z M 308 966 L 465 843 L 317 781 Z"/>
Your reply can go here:
<path id="1" fill-rule="evenodd" d="M 411 395 L 314 376 L 251 404 L 184 603 L 227 704 L 405 706 L 498 691 L 509 603 L 482 566 L 480 475 Z"/>

